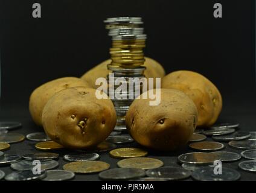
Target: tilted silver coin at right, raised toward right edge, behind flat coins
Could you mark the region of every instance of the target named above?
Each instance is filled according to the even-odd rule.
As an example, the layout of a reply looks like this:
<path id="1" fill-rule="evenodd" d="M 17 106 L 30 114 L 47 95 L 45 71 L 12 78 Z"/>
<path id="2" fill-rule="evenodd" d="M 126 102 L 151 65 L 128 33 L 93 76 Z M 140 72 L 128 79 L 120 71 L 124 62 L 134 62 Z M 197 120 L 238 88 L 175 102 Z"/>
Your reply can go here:
<path id="1" fill-rule="evenodd" d="M 242 139 L 248 139 L 251 134 L 246 131 L 236 131 L 235 133 L 225 134 L 220 136 L 212 136 L 215 141 L 237 141 Z"/>

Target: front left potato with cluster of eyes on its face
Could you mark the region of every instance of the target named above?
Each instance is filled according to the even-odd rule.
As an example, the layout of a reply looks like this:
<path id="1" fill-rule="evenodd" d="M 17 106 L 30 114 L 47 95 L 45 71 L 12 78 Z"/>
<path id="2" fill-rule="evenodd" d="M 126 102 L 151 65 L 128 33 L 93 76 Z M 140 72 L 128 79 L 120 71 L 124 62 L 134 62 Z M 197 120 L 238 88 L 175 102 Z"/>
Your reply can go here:
<path id="1" fill-rule="evenodd" d="M 56 93 L 43 109 L 45 133 L 67 148 L 90 148 L 103 142 L 114 129 L 117 116 L 112 101 L 97 99 L 95 91 L 72 87 Z"/>

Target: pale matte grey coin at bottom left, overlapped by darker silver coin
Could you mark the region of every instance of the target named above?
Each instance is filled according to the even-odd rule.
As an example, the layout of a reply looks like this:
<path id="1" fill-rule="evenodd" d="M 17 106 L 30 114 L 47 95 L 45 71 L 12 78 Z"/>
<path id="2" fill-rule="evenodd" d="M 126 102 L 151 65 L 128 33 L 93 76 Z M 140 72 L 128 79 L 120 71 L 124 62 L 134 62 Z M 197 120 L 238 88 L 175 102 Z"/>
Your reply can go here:
<path id="1" fill-rule="evenodd" d="M 46 177 L 42 179 L 43 181 L 64 181 L 75 177 L 74 172 L 62 169 L 47 170 L 46 174 Z"/>

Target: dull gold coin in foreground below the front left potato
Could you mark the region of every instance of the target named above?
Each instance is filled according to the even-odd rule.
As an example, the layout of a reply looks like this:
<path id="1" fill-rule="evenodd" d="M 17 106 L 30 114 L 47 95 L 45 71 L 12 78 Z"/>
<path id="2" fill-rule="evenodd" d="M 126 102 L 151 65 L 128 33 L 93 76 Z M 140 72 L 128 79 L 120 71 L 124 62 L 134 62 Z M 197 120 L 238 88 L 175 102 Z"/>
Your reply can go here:
<path id="1" fill-rule="evenodd" d="M 109 169 L 110 165 L 101 161 L 70 162 L 63 165 L 63 169 L 75 173 L 95 173 Z"/>

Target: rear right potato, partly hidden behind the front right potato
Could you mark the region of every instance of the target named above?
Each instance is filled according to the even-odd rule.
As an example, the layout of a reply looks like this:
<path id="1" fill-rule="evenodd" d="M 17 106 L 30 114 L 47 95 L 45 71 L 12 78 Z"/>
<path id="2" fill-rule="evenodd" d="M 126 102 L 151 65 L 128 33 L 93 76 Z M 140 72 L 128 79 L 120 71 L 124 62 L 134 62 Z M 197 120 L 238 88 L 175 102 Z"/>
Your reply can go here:
<path id="1" fill-rule="evenodd" d="M 210 80 L 192 71 L 176 71 L 166 75 L 162 88 L 179 89 L 196 104 L 199 127 L 208 127 L 216 122 L 222 110 L 222 95 Z"/>

